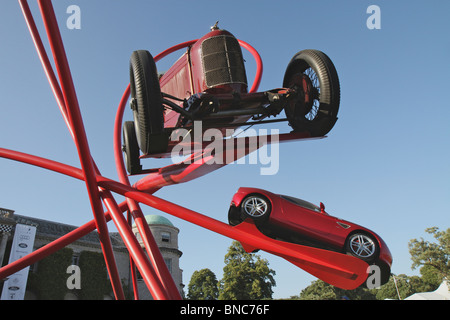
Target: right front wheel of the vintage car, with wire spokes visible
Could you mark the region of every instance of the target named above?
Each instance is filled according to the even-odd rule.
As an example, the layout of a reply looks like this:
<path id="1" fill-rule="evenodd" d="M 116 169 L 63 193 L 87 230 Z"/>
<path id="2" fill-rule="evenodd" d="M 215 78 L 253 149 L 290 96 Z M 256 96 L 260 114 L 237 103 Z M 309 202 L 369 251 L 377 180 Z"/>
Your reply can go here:
<path id="1" fill-rule="evenodd" d="M 299 89 L 297 99 L 285 108 L 294 131 L 319 137 L 333 128 L 341 93 L 336 68 L 326 54 L 318 50 L 298 52 L 288 64 L 283 87 Z"/>

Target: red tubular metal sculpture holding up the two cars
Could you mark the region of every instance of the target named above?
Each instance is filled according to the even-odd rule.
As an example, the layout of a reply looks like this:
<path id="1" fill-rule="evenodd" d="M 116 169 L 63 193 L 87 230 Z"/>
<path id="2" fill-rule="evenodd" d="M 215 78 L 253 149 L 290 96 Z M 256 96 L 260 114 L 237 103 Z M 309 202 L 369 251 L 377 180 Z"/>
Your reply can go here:
<path id="1" fill-rule="evenodd" d="M 332 285 L 344 289 L 354 289 L 364 283 L 367 278 L 368 264 L 360 259 L 336 252 L 274 240 L 259 232 L 252 222 L 244 221 L 243 223 L 233 227 L 153 195 L 153 193 L 161 187 L 173 183 L 190 181 L 208 172 L 217 170 L 221 166 L 226 165 L 226 163 L 213 166 L 206 163 L 207 159 L 201 158 L 199 161 L 194 161 L 190 164 L 180 163 L 173 164 L 165 168 L 151 169 L 144 172 L 147 174 L 136 184 L 131 186 L 123 161 L 121 143 L 123 112 L 130 96 L 130 86 L 125 90 L 120 101 L 114 128 L 115 161 L 120 181 L 113 181 L 103 177 L 91 156 L 89 143 L 86 138 L 83 120 L 77 101 L 77 95 L 74 89 L 69 64 L 52 3 L 50 0 L 38 0 L 40 12 L 44 21 L 56 66 L 56 74 L 51 67 L 49 57 L 44 49 L 27 1 L 19 0 L 19 3 L 33 38 L 36 50 L 39 54 L 39 58 L 49 80 L 50 87 L 77 147 L 81 168 L 75 168 L 30 154 L 1 148 L 0 157 L 31 164 L 85 181 L 94 219 L 69 234 L 47 244 L 42 248 L 37 249 L 31 254 L 2 267 L 0 269 L 0 278 L 5 278 L 18 270 L 43 259 L 73 241 L 76 241 L 89 232 L 97 230 L 114 295 L 116 299 L 124 299 L 121 281 L 119 279 L 111 242 L 108 236 L 107 222 L 113 220 L 125 243 L 125 246 L 130 253 L 133 264 L 142 275 L 142 278 L 152 296 L 155 299 L 181 299 L 181 295 L 173 282 L 150 229 L 145 222 L 144 216 L 140 209 L 140 205 L 144 204 L 189 221 L 203 228 L 209 229 L 213 232 L 240 241 L 248 250 L 257 248 L 281 256 Z M 158 61 L 160 58 L 180 48 L 186 48 L 192 45 L 195 47 L 196 43 L 197 41 L 194 40 L 172 47 L 155 56 L 154 60 Z M 254 50 L 250 45 L 243 41 L 239 41 L 239 43 L 244 48 L 250 50 L 250 52 L 256 57 L 257 61 L 257 73 L 254 84 L 248 93 L 246 93 L 246 89 L 243 88 L 243 90 L 245 90 L 242 91 L 241 94 L 243 96 L 252 93 L 258 95 L 256 90 L 259 86 L 262 75 L 261 60 L 256 50 Z M 288 70 L 291 70 L 292 72 L 289 71 L 287 73 L 285 78 L 285 86 L 297 88 L 295 89 L 297 90 L 297 97 L 298 92 L 301 91 L 301 101 L 297 98 L 297 100 L 290 104 L 290 107 L 295 109 L 300 104 L 303 109 L 305 107 L 313 109 L 313 98 L 311 97 L 317 93 L 314 93 L 312 83 L 310 83 L 309 80 L 302 78 L 301 76 L 299 77 L 299 75 L 294 72 L 294 67 L 297 67 L 297 64 L 297 60 L 291 62 L 291 69 L 288 68 Z M 167 80 L 170 79 L 167 78 Z M 295 90 L 292 89 L 291 91 Z M 217 92 L 213 93 L 218 94 Z M 230 92 L 226 92 L 225 90 L 225 92 L 221 92 L 220 94 L 229 95 Z M 280 97 L 284 97 L 287 93 L 285 90 L 280 90 L 276 91 L 275 94 L 280 95 Z M 331 95 L 335 96 L 336 94 L 338 93 L 334 92 Z M 261 95 L 258 97 L 261 98 L 260 96 Z M 222 98 L 229 97 L 222 96 Z M 173 109 L 177 109 L 176 106 L 172 107 Z M 322 111 L 322 114 L 325 114 L 325 117 L 319 119 L 319 122 L 325 122 L 325 126 L 327 127 L 326 130 L 331 129 L 334 125 L 334 121 L 336 120 L 335 112 L 337 110 L 327 110 L 325 107 L 319 107 L 319 109 Z M 291 111 L 295 110 L 292 109 Z M 287 113 L 289 113 L 289 111 L 287 111 Z M 323 136 L 323 132 L 319 132 L 317 134 L 314 133 L 313 130 L 297 130 L 299 125 L 295 121 L 298 118 L 298 115 L 294 113 L 295 112 L 293 112 L 290 116 L 290 123 L 297 132 L 280 135 L 280 142 L 296 141 L 314 136 Z M 187 116 L 187 114 L 185 115 Z M 238 115 L 238 113 L 235 115 Z M 304 117 L 305 115 L 306 113 L 304 111 L 301 116 Z M 194 118 L 190 120 L 193 119 Z M 179 123 L 179 120 L 180 119 L 177 120 L 177 123 Z M 239 138 L 235 139 L 238 140 Z M 271 143 L 270 139 L 267 139 L 266 141 L 267 143 Z M 238 144 L 236 143 L 234 145 Z M 262 145 L 258 147 L 261 146 Z M 248 153 L 248 150 L 246 152 Z M 151 153 L 147 152 L 142 157 L 149 155 L 151 156 Z M 120 204 L 116 203 L 112 193 L 125 196 L 126 201 Z M 102 202 L 107 208 L 107 212 L 104 212 Z M 124 216 L 124 212 L 127 212 L 126 216 Z M 131 224 L 133 220 L 136 223 L 139 233 L 144 241 L 148 256 L 144 252 L 143 248 L 141 248 L 136 237 L 131 231 Z M 132 268 L 132 271 L 132 278 L 135 286 L 135 298 L 138 299 L 139 296 L 136 290 L 136 274 L 134 272 L 134 267 Z"/>

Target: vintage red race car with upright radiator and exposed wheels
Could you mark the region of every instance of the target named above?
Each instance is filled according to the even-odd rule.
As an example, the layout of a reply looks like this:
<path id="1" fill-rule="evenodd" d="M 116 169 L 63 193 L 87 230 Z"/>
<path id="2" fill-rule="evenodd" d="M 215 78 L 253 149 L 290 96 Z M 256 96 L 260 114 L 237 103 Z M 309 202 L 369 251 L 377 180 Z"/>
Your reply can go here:
<path id="1" fill-rule="evenodd" d="M 140 158 L 167 153 L 170 134 L 177 128 L 194 128 L 195 121 L 202 121 L 203 130 L 217 128 L 224 133 L 227 128 L 274 121 L 288 121 L 293 131 L 311 137 L 324 136 L 333 128 L 340 102 L 339 79 L 323 52 L 298 52 L 288 64 L 282 88 L 256 92 L 262 63 L 257 60 L 260 69 L 249 90 L 243 41 L 216 24 L 199 40 L 187 43 L 185 53 L 163 75 L 147 50 L 131 55 L 134 121 L 126 121 L 123 127 L 129 173 L 142 172 Z M 185 46 L 173 48 L 179 47 Z M 256 50 L 251 52 L 260 58 Z M 286 118 L 265 120 L 283 110 Z"/>

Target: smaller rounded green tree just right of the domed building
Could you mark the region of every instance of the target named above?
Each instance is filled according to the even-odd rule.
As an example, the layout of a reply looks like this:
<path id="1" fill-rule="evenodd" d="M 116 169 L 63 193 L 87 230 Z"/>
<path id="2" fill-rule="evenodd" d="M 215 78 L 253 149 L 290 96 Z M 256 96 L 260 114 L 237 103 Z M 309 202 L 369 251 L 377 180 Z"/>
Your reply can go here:
<path id="1" fill-rule="evenodd" d="M 187 298 L 190 300 L 217 300 L 219 297 L 218 281 L 210 269 L 194 271 L 189 281 Z"/>

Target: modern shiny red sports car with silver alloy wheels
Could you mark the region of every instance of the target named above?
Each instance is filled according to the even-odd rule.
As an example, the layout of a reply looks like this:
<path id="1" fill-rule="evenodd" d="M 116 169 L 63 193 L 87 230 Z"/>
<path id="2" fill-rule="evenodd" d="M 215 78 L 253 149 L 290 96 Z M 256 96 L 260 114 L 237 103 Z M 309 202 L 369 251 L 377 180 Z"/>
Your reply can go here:
<path id="1" fill-rule="evenodd" d="M 375 232 L 325 212 L 316 206 L 290 196 L 256 188 L 239 188 L 228 212 L 230 225 L 247 218 L 271 238 L 312 245 L 353 255 L 380 267 L 381 284 L 389 280 L 392 255 L 386 243 Z"/>

